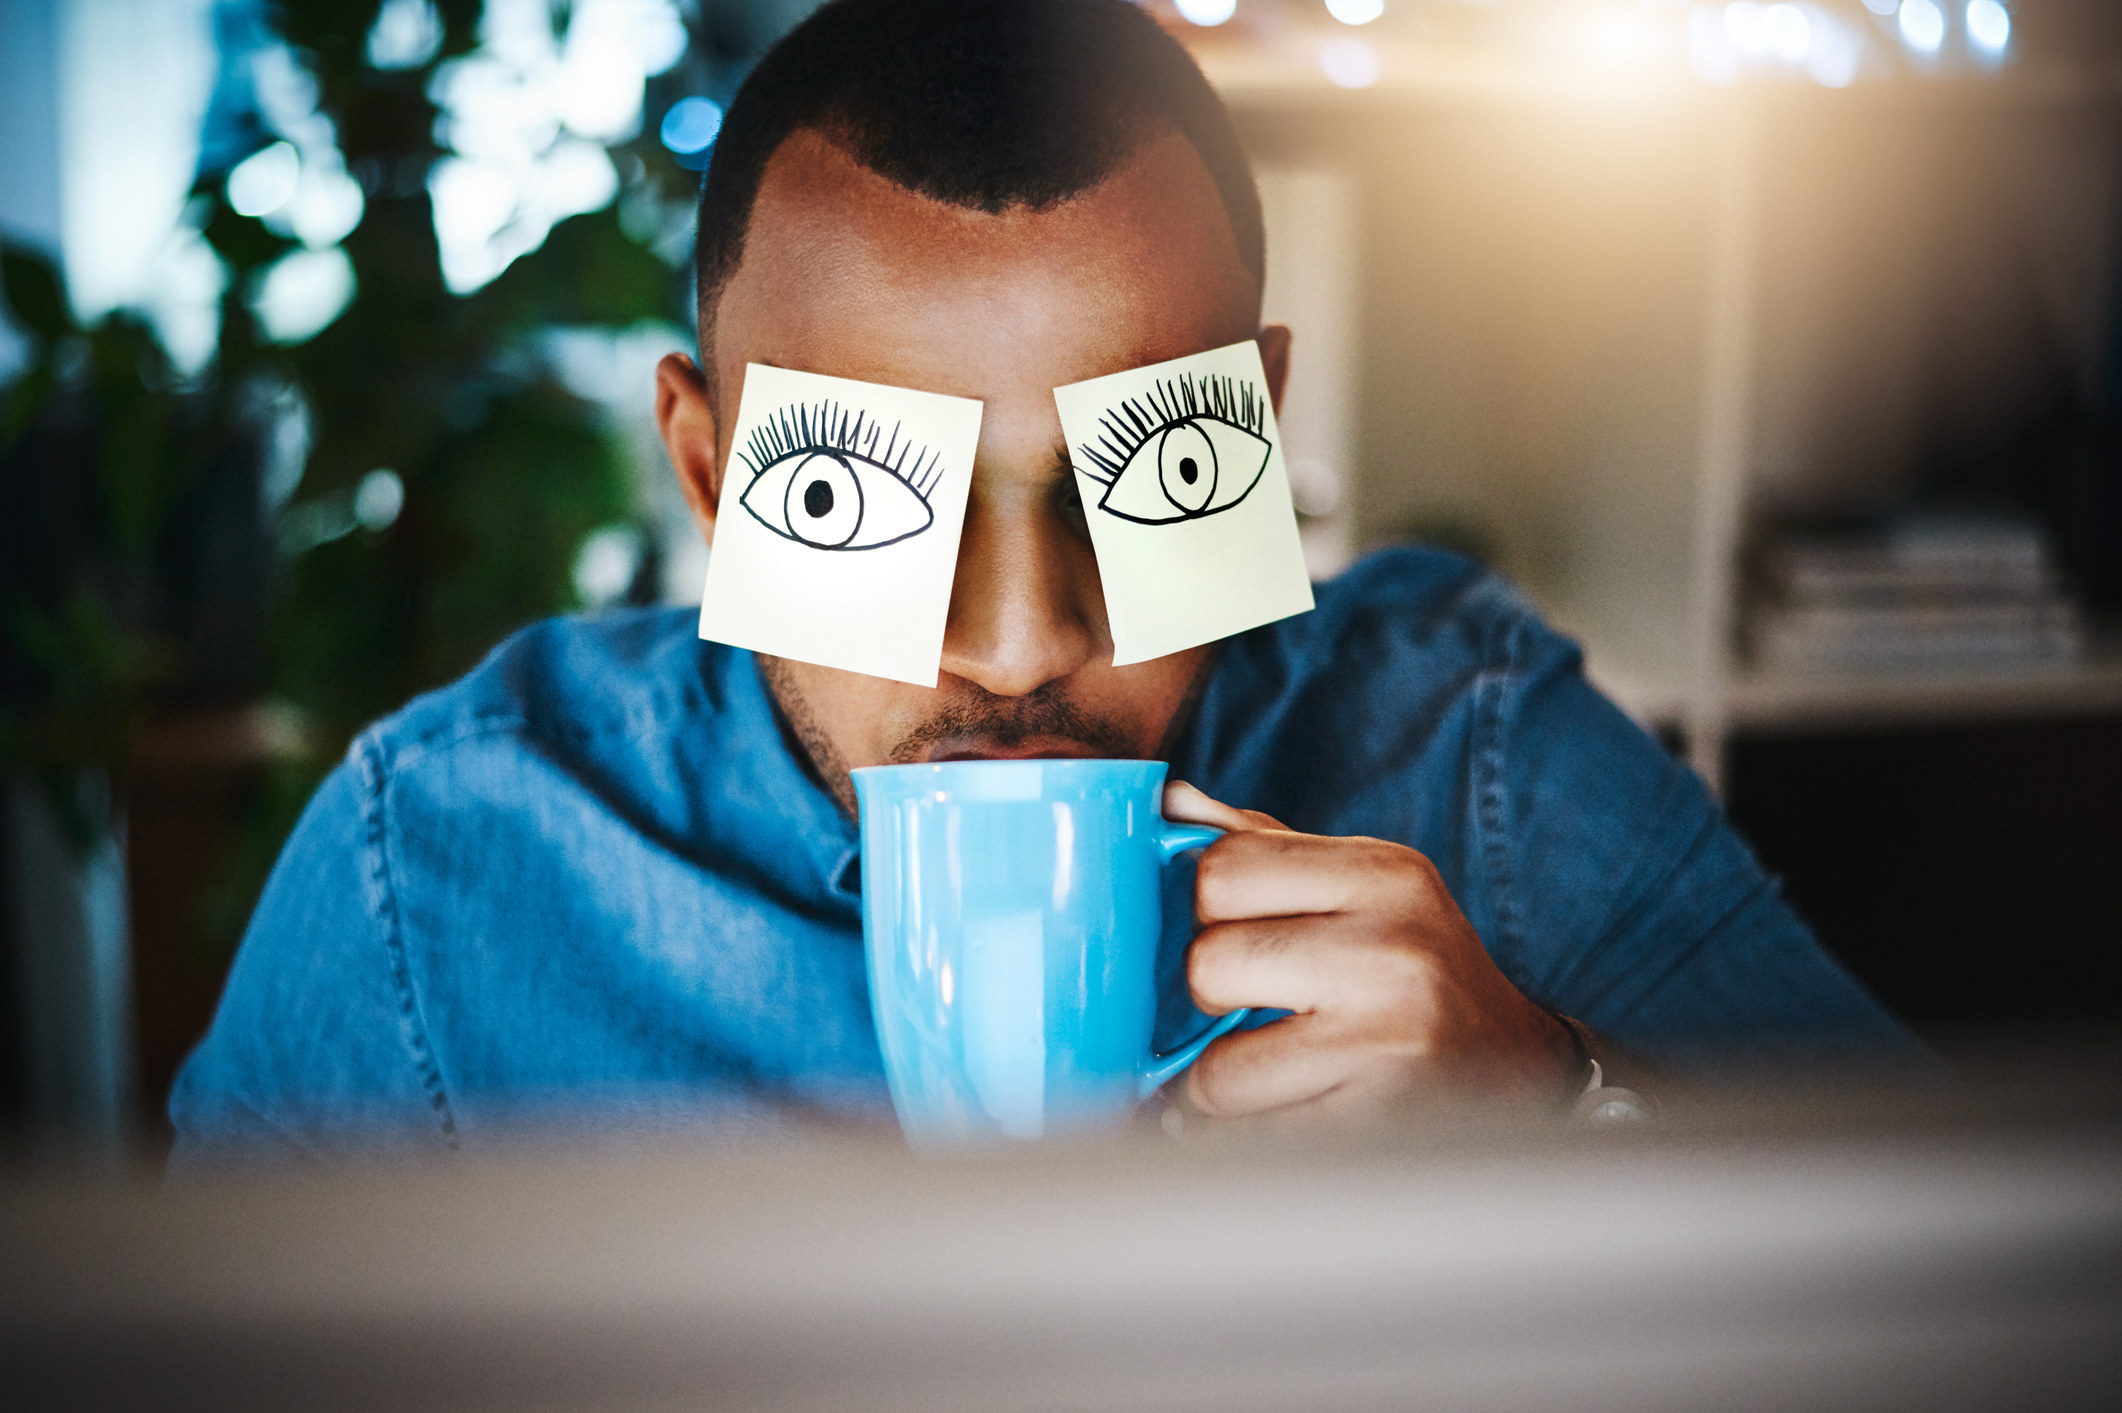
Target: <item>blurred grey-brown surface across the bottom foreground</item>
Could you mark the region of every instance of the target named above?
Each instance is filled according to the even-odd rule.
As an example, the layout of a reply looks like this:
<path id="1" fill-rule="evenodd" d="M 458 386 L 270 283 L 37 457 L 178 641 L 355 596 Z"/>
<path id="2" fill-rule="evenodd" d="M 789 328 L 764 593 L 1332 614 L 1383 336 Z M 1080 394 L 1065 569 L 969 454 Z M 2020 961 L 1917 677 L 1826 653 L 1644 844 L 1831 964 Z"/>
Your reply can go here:
<path id="1" fill-rule="evenodd" d="M 0 1188 L 8 1409 L 2114 1409 L 2114 1054 L 1570 1133 Z"/>

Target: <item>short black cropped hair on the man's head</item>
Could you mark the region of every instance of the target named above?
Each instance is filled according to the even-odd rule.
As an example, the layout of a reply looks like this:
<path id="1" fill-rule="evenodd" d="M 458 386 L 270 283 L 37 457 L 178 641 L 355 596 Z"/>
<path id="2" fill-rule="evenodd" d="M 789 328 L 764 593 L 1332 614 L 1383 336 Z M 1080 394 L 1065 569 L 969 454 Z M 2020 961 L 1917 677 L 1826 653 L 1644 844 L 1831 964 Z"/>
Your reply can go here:
<path id="1" fill-rule="evenodd" d="M 1193 57 L 1129 0 L 832 0 L 730 102 L 700 191 L 700 335 L 745 257 L 766 163 L 804 127 L 953 206 L 1033 210 L 1089 191 L 1146 138 L 1180 132 L 1258 284 L 1252 163 Z M 702 348 L 702 354 L 707 348 Z"/>

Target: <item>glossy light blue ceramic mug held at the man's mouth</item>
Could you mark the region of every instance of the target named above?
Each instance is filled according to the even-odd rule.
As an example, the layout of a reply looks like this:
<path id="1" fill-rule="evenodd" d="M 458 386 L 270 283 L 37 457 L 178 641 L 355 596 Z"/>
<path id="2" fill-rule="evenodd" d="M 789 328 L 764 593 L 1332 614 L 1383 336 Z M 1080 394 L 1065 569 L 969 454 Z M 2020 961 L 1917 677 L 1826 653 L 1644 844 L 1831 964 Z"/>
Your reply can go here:
<path id="1" fill-rule="evenodd" d="M 1150 1052 L 1161 870 L 1222 834 L 1163 817 L 1163 762 L 853 777 L 870 1010 L 915 1144 L 1120 1122 L 1250 1014 Z"/>

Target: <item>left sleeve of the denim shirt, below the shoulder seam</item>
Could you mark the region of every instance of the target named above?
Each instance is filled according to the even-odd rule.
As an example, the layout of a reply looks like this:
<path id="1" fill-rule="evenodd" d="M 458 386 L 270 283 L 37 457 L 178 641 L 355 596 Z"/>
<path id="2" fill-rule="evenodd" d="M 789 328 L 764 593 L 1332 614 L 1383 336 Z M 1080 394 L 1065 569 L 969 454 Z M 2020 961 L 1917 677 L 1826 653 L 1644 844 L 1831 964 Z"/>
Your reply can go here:
<path id="1" fill-rule="evenodd" d="M 395 946 L 380 806 L 378 764 L 356 743 L 280 853 L 176 1078 L 174 1165 L 450 1141 Z"/>

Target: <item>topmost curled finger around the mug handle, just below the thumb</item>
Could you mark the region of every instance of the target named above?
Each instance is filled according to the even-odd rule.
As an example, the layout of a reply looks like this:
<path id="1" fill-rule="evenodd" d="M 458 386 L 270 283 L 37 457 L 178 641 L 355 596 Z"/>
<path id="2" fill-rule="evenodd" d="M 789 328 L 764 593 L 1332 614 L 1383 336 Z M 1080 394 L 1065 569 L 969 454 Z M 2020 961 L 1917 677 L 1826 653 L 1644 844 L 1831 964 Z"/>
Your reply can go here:
<path id="1" fill-rule="evenodd" d="M 1420 912 L 1439 891 L 1430 861 L 1401 844 L 1252 830 L 1201 855 L 1195 912 L 1203 923 L 1360 908 Z"/>

